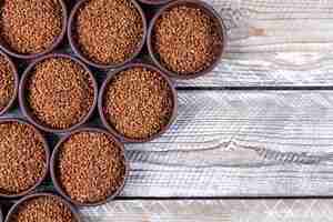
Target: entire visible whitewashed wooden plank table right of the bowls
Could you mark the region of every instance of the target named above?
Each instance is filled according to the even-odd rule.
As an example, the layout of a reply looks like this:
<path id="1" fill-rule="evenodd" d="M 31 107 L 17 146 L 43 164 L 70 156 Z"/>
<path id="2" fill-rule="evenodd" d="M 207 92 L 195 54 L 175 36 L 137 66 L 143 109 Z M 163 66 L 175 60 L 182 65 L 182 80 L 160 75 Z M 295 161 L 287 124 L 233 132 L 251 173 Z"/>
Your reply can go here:
<path id="1" fill-rule="evenodd" d="M 333 0 L 206 0 L 228 26 L 210 74 L 176 82 L 179 117 L 127 144 L 99 222 L 333 221 Z M 250 199 L 249 199 L 250 198 Z M 304 199 L 306 198 L 306 199 Z"/>

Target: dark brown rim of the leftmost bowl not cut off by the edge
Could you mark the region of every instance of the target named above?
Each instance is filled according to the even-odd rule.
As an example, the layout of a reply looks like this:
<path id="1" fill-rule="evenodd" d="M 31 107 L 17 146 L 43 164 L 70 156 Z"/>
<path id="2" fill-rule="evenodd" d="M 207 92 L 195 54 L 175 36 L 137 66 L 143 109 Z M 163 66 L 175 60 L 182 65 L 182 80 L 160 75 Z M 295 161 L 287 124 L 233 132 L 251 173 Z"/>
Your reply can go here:
<path id="1" fill-rule="evenodd" d="M 29 74 L 30 71 L 36 67 L 37 63 L 50 59 L 50 58 L 67 58 L 67 59 L 71 59 L 72 61 L 79 63 L 90 75 L 91 80 L 92 80 L 92 84 L 93 84 L 93 91 L 94 91 L 94 99 L 93 99 L 93 103 L 92 107 L 90 108 L 88 114 L 82 118 L 82 120 L 80 122 L 78 122 L 77 124 L 72 125 L 71 128 L 68 129 L 52 129 L 48 125 L 43 125 L 42 123 L 40 123 L 38 120 L 36 120 L 36 118 L 33 118 L 33 114 L 31 113 L 31 110 L 29 109 L 29 104 L 27 102 L 26 99 L 26 87 L 27 87 L 27 81 L 29 79 Z M 23 113 L 23 115 L 32 123 L 34 124 L 37 128 L 47 131 L 47 132 L 53 132 L 53 133 L 64 133 L 64 132 L 69 132 L 72 131 L 77 128 L 79 128 L 80 125 L 84 124 L 93 114 L 94 108 L 97 105 L 98 102 L 98 84 L 97 81 L 92 74 L 92 72 L 88 69 L 88 67 L 81 62 L 79 59 L 72 57 L 72 56 L 68 56 L 68 54 L 61 54 L 61 53 L 52 53 L 52 54 L 48 54 L 48 56 L 43 56 L 37 60 L 34 60 L 23 72 L 21 81 L 20 81 L 20 87 L 19 87 L 19 103 L 20 103 L 20 108 L 21 111 Z"/>

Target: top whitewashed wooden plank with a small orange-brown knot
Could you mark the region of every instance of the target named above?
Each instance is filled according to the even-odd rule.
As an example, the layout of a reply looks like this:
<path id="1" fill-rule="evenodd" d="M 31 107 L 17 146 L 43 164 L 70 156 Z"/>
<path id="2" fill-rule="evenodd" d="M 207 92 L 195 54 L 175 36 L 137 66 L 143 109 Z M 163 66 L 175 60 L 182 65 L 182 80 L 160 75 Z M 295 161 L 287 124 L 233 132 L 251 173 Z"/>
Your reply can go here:
<path id="1" fill-rule="evenodd" d="M 228 27 L 218 68 L 179 87 L 333 84 L 333 1 L 205 0 Z"/>

